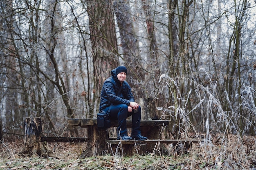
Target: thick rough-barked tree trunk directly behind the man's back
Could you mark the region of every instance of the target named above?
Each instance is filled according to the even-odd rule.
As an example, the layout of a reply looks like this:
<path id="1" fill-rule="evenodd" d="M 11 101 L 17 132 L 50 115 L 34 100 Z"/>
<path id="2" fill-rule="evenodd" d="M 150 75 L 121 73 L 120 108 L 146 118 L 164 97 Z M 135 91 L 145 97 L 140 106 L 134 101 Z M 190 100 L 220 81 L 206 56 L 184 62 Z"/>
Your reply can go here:
<path id="1" fill-rule="evenodd" d="M 119 65 L 119 58 L 112 0 L 86 2 L 94 66 L 94 102 L 99 99 L 103 82 L 110 76 L 110 71 Z"/>

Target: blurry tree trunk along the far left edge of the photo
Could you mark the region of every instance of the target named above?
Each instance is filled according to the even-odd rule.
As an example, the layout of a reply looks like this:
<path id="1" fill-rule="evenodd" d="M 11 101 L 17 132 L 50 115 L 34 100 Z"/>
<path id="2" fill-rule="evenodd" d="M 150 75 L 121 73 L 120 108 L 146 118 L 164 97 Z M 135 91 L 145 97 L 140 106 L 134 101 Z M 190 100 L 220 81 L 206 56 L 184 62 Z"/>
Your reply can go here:
<path id="1" fill-rule="evenodd" d="M 7 11 L 9 11 L 9 17 L 2 19 L 4 27 L 1 30 L 2 35 L 6 37 L 2 42 L 4 44 L 2 46 L 2 64 L 5 66 L 5 82 L 8 84 L 5 95 L 4 130 L 13 133 L 12 127 L 16 126 L 13 122 L 20 124 L 21 119 L 27 115 L 25 108 L 28 105 L 28 93 L 25 91 L 25 78 L 22 77 L 24 68 L 20 65 L 20 62 L 17 63 L 16 60 L 13 60 L 13 57 L 17 55 L 18 48 L 13 40 L 16 38 L 16 31 L 18 30 L 15 28 L 16 22 L 13 17 L 14 11 L 11 0 L 1 2 L 1 15 L 4 16 Z"/>

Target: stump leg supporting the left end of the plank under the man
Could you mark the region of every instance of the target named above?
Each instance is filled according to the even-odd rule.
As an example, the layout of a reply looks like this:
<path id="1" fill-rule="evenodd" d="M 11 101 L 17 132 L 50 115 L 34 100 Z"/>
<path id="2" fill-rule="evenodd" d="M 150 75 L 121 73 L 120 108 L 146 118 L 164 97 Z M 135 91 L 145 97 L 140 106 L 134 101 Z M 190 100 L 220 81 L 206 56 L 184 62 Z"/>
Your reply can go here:
<path id="1" fill-rule="evenodd" d="M 88 143 L 85 151 L 80 156 L 81 158 L 92 157 L 96 155 L 103 155 L 106 152 L 106 139 L 108 139 L 108 130 L 89 126 L 88 130 Z"/>

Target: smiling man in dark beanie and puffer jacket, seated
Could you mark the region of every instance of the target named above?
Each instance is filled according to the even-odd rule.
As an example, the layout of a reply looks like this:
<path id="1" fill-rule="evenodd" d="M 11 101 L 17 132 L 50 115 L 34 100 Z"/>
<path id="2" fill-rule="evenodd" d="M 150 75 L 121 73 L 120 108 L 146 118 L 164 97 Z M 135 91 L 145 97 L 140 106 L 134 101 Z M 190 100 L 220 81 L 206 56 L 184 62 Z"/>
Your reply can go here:
<path id="1" fill-rule="evenodd" d="M 111 71 L 111 77 L 106 79 L 101 90 L 100 110 L 108 112 L 110 119 L 118 121 L 118 140 L 147 140 L 141 135 L 141 108 L 132 95 L 129 84 L 125 81 L 127 68 L 118 66 Z M 111 106 L 110 106 L 111 105 Z M 132 115 L 132 133 L 128 136 L 126 118 Z"/>

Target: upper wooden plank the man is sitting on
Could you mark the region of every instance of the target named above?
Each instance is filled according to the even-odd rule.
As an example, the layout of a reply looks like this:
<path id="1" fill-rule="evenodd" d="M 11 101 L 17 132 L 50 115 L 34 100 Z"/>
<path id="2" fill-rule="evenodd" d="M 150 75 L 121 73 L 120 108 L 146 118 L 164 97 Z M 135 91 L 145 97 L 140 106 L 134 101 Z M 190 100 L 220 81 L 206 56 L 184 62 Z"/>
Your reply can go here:
<path id="1" fill-rule="evenodd" d="M 67 122 L 69 125 L 72 126 L 81 126 L 83 128 L 86 128 L 88 126 L 97 126 L 97 119 L 67 119 Z M 154 127 L 154 126 L 163 126 L 168 125 L 169 120 L 141 120 L 140 126 L 147 126 L 147 127 Z M 117 120 L 111 121 L 111 127 L 116 127 L 118 125 Z M 128 119 L 126 120 L 126 126 L 127 128 L 132 127 L 132 120 Z"/>

